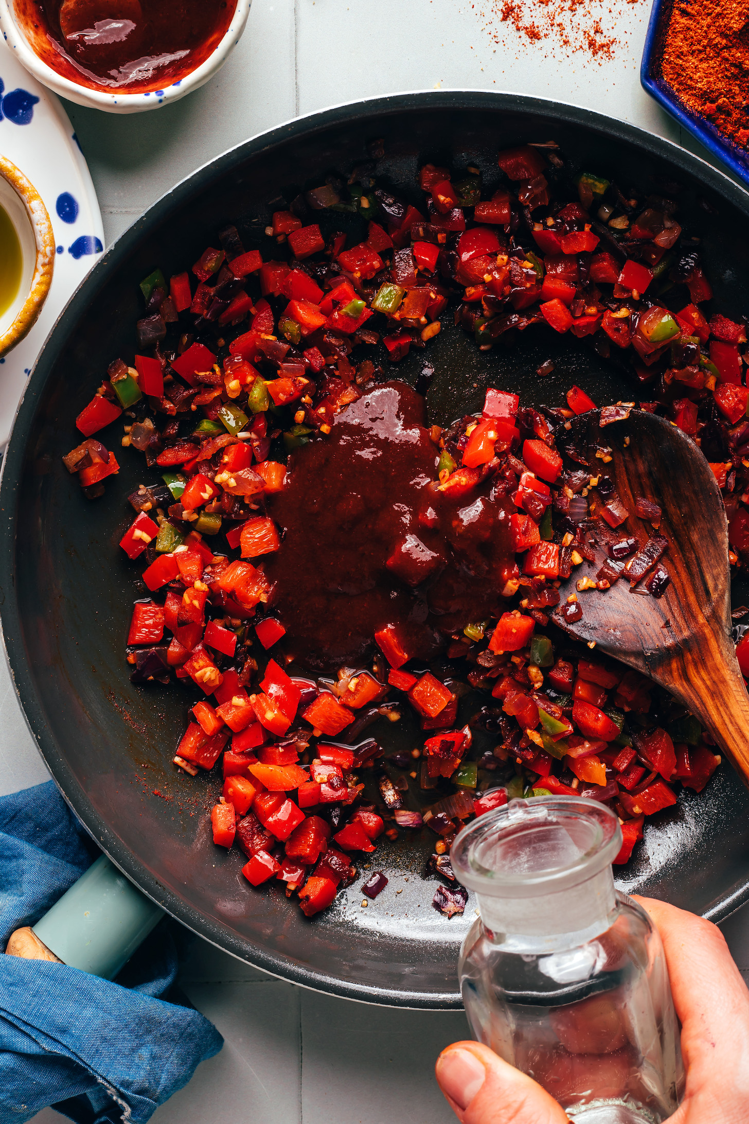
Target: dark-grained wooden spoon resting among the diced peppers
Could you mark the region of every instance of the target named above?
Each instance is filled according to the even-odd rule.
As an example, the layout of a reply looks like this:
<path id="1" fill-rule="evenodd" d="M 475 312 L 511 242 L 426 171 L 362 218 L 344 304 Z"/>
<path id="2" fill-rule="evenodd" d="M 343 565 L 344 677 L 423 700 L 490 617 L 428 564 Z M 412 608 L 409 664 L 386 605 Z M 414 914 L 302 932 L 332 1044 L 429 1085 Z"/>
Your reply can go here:
<path id="1" fill-rule="evenodd" d="M 668 540 L 661 562 L 670 584 L 660 598 L 641 596 L 623 573 L 605 591 L 578 592 L 577 581 L 595 579 L 608 556 L 604 546 L 593 544 L 595 563 L 575 568 L 563 581 L 552 619 L 669 690 L 710 731 L 749 787 L 749 696 L 731 640 L 728 523 L 715 477 L 694 442 L 664 418 L 632 410 L 611 425 L 600 420 L 601 410 L 581 415 L 558 444 L 584 457 L 593 478 L 606 474 L 615 481 L 630 515 L 612 538 L 631 535 L 638 549 L 654 534 Z M 658 529 L 634 515 L 639 497 L 661 508 Z M 604 502 L 593 489 L 588 500 L 597 509 Z M 574 623 L 564 618 L 572 593 L 583 609 Z"/>

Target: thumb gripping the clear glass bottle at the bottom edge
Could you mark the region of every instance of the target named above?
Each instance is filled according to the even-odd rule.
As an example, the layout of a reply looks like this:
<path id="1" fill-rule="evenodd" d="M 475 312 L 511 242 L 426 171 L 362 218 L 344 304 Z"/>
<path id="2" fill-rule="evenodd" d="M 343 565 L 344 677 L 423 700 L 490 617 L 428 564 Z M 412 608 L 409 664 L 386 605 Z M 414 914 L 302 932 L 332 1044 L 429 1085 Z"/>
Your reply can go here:
<path id="1" fill-rule="evenodd" d="M 462 1124 L 567 1124 L 554 1097 L 479 1042 L 454 1042 L 435 1071 Z"/>

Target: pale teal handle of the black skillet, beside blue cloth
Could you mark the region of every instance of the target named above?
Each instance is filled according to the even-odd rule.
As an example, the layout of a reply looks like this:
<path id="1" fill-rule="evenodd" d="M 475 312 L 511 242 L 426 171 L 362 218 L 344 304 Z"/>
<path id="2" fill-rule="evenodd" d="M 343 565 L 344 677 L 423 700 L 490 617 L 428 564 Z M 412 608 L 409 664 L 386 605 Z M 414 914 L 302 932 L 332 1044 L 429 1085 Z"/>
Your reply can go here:
<path id="1" fill-rule="evenodd" d="M 31 931 L 64 964 L 111 980 L 163 916 L 102 854 Z"/>

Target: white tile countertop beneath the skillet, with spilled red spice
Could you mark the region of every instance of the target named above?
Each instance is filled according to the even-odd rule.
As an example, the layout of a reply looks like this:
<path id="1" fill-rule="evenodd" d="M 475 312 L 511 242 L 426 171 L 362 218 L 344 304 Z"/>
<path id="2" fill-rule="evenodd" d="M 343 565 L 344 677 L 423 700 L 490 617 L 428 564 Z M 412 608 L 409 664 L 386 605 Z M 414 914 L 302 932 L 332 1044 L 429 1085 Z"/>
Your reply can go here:
<path id="1" fill-rule="evenodd" d="M 583 0 L 569 6 L 572 13 L 565 7 L 555 0 L 380 0 L 376 8 L 363 0 L 255 0 L 223 70 L 182 101 L 129 117 L 66 106 L 108 244 L 180 179 L 254 134 L 327 106 L 404 90 L 439 85 L 552 98 L 640 125 L 705 156 L 640 87 L 647 0 Z M 519 30 L 532 24 L 538 31 L 530 36 L 540 37 Z M 587 45 L 577 49 L 591 29 L 594 42 L 603 42 L 597 54 Z M 1 660 L 0 724 L 0 792 L 46 779 Z M 749 907 L 723 931 L 739 967 L 749 971 Z M 199 939 L 180 982 L 226 1045 L 156 1112 L 156 1124 L 454 1120 L 433 1062 L 442 1046 L 467 1034 L 462 1013 L 318 995 Z M 35 1117 L 35 1124 L 58 1121 L 51 1109 Z"/>

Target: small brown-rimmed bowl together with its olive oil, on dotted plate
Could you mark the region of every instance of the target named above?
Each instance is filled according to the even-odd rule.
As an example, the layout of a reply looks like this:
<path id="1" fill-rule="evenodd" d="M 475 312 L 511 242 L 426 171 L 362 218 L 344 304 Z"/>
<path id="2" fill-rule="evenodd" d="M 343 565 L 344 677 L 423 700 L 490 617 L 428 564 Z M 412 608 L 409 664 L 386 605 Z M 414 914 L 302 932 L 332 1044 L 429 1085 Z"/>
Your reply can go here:
<path id="1" fill-rule="evenodd" d="M 35 324 L 54 266 L 47 209 L 34 184 L 0 155 L 0 357 Z"/>

